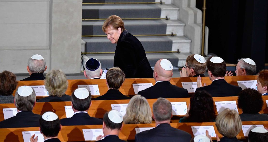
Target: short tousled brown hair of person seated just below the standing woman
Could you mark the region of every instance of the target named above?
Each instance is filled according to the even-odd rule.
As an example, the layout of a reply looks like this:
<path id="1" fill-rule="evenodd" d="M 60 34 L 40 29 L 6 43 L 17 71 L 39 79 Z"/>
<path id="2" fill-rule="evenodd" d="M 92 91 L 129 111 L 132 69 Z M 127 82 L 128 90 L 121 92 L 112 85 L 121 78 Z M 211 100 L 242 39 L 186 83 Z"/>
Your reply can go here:
<path id="1" fill-rule="evenodd" d="M 126 79 L 124 72 L 118 68 L 110 68 L 106 73 L 106 81 L 110 89 L 119 89 Z"/>

